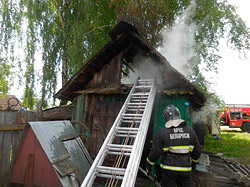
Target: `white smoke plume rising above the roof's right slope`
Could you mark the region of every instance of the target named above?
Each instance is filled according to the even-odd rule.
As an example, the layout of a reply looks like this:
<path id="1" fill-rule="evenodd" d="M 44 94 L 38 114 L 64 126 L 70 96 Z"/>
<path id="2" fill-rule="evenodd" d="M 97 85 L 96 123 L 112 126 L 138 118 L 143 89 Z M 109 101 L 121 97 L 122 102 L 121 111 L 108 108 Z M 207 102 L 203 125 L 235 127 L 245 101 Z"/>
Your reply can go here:
<path id="1" fill-rule="evenodd" d="M 173 27 L 162 30 L 163 43 L 158 51 L 184 76 L 190 75 L 188 61 L 194 55 L 195 33 L 198 29 L 194 23 L 187 24 L 196 4 L 191 1 L 189 7 L 177 19 Z"/>

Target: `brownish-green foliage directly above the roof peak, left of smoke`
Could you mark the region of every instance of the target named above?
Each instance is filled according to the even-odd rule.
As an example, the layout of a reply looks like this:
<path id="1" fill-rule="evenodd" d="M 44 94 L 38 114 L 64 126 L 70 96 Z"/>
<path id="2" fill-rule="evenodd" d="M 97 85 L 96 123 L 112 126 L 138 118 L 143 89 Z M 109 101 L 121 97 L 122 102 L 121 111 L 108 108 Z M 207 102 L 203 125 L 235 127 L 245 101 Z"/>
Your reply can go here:
<path id="1" fill-rule="evenodd" d="M 113 2 L 113 3 L 112 3 Z M 113 0 L 118 19 L 132 23 L 138 29 L 141 38 L 150 45 L 160 45 L 161 30 L 171 27 L 175 18 L 182 13 L 183 7 L 188 5 L 187 0 Z"/>

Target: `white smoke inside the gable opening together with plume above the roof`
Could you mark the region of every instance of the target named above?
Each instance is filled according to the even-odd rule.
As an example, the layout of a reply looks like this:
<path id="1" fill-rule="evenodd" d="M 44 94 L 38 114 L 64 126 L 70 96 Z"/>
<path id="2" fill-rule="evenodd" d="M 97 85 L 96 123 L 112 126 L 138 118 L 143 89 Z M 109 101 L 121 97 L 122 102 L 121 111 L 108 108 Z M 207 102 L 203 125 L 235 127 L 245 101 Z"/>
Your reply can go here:
<path id="1" fill-rule="evenodd" d="M 196 4 L 192 0 L 190 6 L 178 17 L 173 27 L 162 30 L 162 46 L 157 49 L 184 76 L 190 75 L 188 60 L 194 55 L 193 46 L 197 26 L 195 24 L 187 24 L 187 21 L 192 16 L 195 8 Z M 123 77 L 122 82 L 131 84 L 140 76 L 141 79 L 156 78 L 157 83 L 161 84 L 158 68 L 155 63 L 152 64 L 145 58 L 137 57 L 135 63 L 133 63 L 135 72 L 130 71 L 129 76 Z"/>

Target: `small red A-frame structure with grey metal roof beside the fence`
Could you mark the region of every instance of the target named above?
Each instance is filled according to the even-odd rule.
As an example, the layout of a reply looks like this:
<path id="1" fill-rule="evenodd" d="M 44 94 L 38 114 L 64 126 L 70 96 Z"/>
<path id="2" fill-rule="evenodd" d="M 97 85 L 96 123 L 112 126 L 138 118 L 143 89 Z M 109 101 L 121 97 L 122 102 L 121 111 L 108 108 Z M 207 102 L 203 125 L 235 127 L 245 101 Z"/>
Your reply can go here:
<path id="1" fill-rule="evenodd" d="M 9 186 L 79 186 L 92 162 L 69 121 L 29 122 Z"/>

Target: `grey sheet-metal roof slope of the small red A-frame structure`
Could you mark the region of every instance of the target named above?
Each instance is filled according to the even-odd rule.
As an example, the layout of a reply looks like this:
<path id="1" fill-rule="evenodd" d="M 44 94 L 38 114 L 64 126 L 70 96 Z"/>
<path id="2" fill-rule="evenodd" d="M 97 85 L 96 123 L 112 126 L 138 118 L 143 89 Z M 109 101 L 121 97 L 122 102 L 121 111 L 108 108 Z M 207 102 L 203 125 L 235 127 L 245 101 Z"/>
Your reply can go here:
<path id="1" fill-rule="evenodd" d="M 83 181 L 92 164 L 81 139 L 69 121 L 30 122 L 38 141 L 63 186 L 72 186 L 73 178 Z"/>

